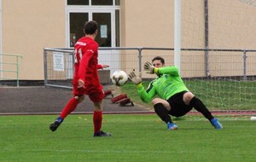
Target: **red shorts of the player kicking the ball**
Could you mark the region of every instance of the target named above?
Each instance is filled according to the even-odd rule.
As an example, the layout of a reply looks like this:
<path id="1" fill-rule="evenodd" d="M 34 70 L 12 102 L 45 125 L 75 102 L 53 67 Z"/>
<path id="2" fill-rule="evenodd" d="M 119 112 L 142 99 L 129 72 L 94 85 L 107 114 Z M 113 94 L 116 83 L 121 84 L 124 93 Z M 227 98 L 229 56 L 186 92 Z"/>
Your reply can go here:
<path id="1" fill-rule="evenodd" d="M 104 98 L 104 92 L 101 84 L 88 85 L 84 88 L 78 88 L 78 82 L 73 81 L 73 95 L 88 95 L 90 101 L 99 102 Z"/>

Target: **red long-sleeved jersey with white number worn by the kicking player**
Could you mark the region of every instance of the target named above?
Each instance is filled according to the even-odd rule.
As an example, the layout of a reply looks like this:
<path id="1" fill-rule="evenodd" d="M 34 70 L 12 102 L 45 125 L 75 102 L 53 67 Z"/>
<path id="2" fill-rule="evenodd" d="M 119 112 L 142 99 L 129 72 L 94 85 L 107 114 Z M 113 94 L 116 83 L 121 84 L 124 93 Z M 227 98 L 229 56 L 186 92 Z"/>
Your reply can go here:
<path id="1" fill-rule="evenodd" d="M 80 38 L 75 44 L 74 61 L 74 82 L 82 79 L 85 87 L 100 85 L 97 69 L 102 66 L 98 65 L 98 43 L 92 38 Z"/>

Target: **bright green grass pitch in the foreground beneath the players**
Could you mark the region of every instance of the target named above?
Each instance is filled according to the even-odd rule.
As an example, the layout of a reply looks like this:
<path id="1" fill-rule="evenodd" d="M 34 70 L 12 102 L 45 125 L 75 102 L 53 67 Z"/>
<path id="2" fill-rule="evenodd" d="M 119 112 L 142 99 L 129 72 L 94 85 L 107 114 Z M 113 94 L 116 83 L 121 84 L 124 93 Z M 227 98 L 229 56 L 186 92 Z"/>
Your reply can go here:
<path id="1" fill-rule="evenodd" d="M 92 137 L 92 115 L 69 115 L 51 132 L 54 115 L 0 116 L 1 161 L 255 161 L 256 123 L 218 117 L 224 130 L 204 118 L 174 119 L 178 130 L 154 114 L 104 115 L 111 137 Z"/>

